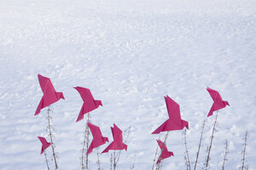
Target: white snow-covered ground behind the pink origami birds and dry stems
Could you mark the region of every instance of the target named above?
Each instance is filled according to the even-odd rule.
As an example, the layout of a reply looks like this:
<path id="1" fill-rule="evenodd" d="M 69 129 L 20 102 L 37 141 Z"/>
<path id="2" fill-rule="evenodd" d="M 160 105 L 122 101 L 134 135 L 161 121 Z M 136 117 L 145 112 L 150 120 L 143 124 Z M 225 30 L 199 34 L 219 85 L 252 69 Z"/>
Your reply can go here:
<path id="1" fill-rule="evenodd" d="M 37 136 L 47 135 L 46 110 L 33 116 L 42 96 L 38 73 L 66 97 L 53 105 L 60 169 L 80 167 L 84 122 L 75 122 L 82 100 L 74 86 L 102 99 L 91 122 L 110 141 L 113 122 L 123 131 L 131 126 L 119 169 L 133 163 L 151 169 L 159 138 L 151 133 L 167 118 L 166 94 L 189 121 L 194 163 L 201 123 L 212 105 L 207 87 L 230 102 L 219 111 L 212 169 L 220 169 L 225 139 L 226 169 L 241 167 L 246 130 L 247 165 L 256 169 L 254 0 L 0 0 L 0 169 L 45 168 Z M 207 118 L 198 169 L 213 120 Z M 170 133 L 167 147 L 175 156 L 162 169 L 185 169 L 183 131 Z M 90 169 L 96 169 L 95 158 L 96 151 Z M 109 154 L 101 161 L 109 169 Z"/>

